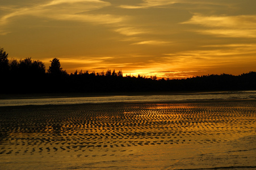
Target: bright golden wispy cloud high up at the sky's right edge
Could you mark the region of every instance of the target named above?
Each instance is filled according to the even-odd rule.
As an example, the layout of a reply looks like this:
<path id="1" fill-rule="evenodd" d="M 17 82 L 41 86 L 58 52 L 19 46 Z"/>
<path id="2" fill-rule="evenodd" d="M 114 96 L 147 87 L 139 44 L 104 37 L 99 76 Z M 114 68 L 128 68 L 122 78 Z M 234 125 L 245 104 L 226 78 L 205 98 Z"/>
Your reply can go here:
<path id="1" fill-rule="evenodd" d="M 221 37 L 256 37 L 256 15 L 204 16 L 194 14 L 182 24 L 202 25 L 205 29 L 194 30 L 207 35 Z"/>

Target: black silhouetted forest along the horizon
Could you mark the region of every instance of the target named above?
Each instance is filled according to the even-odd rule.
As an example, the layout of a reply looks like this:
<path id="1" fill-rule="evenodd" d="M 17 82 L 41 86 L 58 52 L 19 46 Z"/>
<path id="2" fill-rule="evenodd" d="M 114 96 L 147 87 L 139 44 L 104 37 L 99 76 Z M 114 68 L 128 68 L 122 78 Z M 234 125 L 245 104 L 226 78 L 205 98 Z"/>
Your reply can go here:
<path id="1" fill-rule="evenodd" d="M 203 75 L 186 79 L 157 79 L 156 76 L 123 76 L 121 71 L 102 73 L 75 71 L 68 74 L 53 58 L 49 69 L 31 58 L 9 59 L 0 48 L 0 94 L 64 92 L 177 92 L 256 90 L 256 72 L 241 75 Z"/>

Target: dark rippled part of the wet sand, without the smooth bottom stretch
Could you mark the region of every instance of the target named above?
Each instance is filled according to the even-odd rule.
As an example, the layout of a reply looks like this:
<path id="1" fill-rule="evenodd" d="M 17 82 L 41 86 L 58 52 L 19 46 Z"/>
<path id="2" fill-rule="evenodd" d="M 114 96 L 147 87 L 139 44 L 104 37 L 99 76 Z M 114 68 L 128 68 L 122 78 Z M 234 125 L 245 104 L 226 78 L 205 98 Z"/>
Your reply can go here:
<path id="1" fill-rule="evenodd" d="M 136 158 L 138 150 L 149 146 L 228 143 L 254 135 L 256 125 L 256 100 L 44 105 L 0 111 L 2 163 L 7 155 L 16 161 L 31 155 L 105 162 Z"/>

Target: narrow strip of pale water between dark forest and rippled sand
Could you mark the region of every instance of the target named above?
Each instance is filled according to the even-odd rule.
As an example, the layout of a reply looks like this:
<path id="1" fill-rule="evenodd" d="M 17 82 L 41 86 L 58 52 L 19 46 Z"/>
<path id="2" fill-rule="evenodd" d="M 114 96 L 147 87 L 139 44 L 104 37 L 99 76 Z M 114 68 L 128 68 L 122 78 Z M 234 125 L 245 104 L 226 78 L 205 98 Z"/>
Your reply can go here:
<path id="1" fill-rule="evenodd" d="M 256 91 L 200 92 L 175 95 L 138 95 L 138 96 L 97 96 L 97 97 L 45 97 L 36 99 L 1 99 L 0 107 L 16 105 L 62 105 L 85 103 L 117 102 L 168 102 L 189 100 L 241 100 L 256 99 Z"/>

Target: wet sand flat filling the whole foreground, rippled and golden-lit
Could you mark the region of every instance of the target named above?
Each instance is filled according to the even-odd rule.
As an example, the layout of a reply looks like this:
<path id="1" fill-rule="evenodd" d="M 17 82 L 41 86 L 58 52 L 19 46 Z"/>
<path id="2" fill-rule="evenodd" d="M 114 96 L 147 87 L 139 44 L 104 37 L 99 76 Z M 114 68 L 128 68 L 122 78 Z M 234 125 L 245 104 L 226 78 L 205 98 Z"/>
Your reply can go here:
<path id="1" fill-rule="evenodd" d="M 0 107 L 1 169 L 256 169 L 256 100 Z"/>

